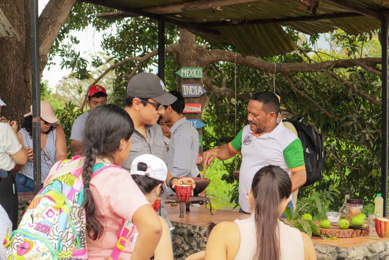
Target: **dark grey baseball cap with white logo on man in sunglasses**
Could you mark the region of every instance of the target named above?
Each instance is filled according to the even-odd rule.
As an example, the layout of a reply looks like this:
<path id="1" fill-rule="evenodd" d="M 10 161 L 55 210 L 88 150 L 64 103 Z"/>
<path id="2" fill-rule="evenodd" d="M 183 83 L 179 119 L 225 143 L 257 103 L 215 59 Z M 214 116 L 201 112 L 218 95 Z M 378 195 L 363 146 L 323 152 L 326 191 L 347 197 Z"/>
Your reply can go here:
<path id="1" fill-rule="evenodd" d="M 152 98 L 162 105 L 171 105 L 177 97 L 166 91 L 164 82 L 155 74 L 143 72 L 135 75 L 127 84 L 128 96 Z"/>

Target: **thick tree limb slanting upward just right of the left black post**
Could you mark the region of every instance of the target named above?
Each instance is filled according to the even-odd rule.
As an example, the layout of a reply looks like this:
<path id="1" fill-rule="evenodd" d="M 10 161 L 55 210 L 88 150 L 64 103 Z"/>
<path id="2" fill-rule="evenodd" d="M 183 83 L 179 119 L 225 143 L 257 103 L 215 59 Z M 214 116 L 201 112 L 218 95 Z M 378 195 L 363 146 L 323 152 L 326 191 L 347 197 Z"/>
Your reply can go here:
<path id="1" fill-rule="evenodd" d="M 47 63 L 47 54 L 62 25 L 69 17 L 76 0 L 50 0 L 39 15 L 39 70 L 40 75 Z"/>

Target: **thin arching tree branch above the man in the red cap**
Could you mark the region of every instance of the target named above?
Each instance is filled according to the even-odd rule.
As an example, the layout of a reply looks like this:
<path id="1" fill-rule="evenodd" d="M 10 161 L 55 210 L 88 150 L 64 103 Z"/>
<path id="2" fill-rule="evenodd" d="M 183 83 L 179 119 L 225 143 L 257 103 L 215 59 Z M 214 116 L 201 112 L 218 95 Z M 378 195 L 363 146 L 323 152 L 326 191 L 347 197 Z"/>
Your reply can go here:
<path id="1" fill-rule="evenodd" d="M 177 51 L 177 48 L 178 48 L 178 44 L 176 43 L 176 44 L 170 45 L 169 47 L 166 47 L 166 48 L 165 48 L 165 52 L 168 52 L 168 53 L 169 53 L 169 52 L 176 52 L 176 51 Z M 151 52 L 149 52 L 149 53 L 143 55 L 142 57 L 136 56 L 136 57 L 128 57 L 128 58 L 125 58 L 125 59 L 123 59 L 122 61 L 119 61 L 119 62 L 113 64 L 112 66 L 110 66 L 109 68 L 107 68 L 103 73 L 100 74 L 100 76 L 98 76 L 98 77 L 95 79 L 95 81 L 93 81 L 92 84 L 89 85 L 88 90 L 87 90 L 86 93 L 85 93 L 84 101 L 82 102 L 81 110 L 84 109 L 86 100 L 88 99 L 89 88 L 90 88 L 91 86 L 93 86 L 93 85 L 96 85 L 97 82 L 99 82 L 100 79 L 102 79 L 102 78 L 103 78 L 107 73 L 109 73 L 111 70 L 113 70 L 113 69 L 115 69 L 115 68 L 117 68 L 117 67 L 119 67 L 119 66 L 121 66 L 121 65 L 123 65 L 123 64 L 125 64 L 125 63 L 127 63 L 127 62 L 129 62 L 129 61 L 136 60 L 136 61 L 138 61 L 138 64 L 137 64 L 137 66 L 135 67 L 136 69 L 134 69 L 135 71 L 133 70 L 133 71 L 130 73 L 130 75 L 132 75 L 132 74 L 134 74 L 134 73 L 136 72 L 136 70 L 138 70 L 139 65 L 140 65 L 142 62 L 144 62 L 144 61 L 150 59 L 151 57 L 153 57 L 153 56 L 155 56 L 155 55 L 157 55 L 157 54 L 158 54 L 158 49 L 155 49 L 155 50 L 153 50 L 153 51 L 151 51 Z M 131 76 L 131 77 L 132 77 L 132 76 Z M 130 78 L 131 78 L 131 77 L 130 77 Z"/>

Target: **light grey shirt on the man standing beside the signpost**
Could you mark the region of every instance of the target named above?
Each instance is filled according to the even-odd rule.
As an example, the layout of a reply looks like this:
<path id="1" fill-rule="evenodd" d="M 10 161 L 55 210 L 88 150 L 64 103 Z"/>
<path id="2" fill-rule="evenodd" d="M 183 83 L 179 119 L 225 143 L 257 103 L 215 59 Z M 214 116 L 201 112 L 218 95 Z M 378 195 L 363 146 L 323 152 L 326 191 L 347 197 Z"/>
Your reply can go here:
<path id="1" fill-rule="evenodd" d="M 168 169 L 176 177 L 197 177 L 198 132 L 185 117 L 170 129 Z"/>

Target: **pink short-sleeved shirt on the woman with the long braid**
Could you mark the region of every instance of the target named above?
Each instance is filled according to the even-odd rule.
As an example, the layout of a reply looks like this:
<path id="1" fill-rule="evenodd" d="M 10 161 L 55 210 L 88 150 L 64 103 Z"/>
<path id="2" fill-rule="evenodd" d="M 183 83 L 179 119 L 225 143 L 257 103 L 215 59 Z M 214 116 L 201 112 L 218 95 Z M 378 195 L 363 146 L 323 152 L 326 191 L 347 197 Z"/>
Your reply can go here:
<path id="1" fill-rule="evenodd" d="M 57 163 L 51 168 L 46 182 L 56 168 Z M 132 221 L 134 213 L 149 202 L 131 175 L 122 168 L 110 167 L 97 174 L 90 182 L 90 190 L 96 209 L 101 215 L 98 220 L 104 227 L 104 235 L 96 241 L 87 237 L 88 259 L 103 260 L 110 256 L 116 247 L 122 218 Z M 129 242 L 120 258 L 130 259 L 133 248 L 134 245 L 131 246 Z"/>

